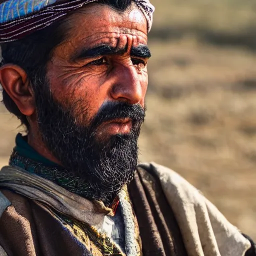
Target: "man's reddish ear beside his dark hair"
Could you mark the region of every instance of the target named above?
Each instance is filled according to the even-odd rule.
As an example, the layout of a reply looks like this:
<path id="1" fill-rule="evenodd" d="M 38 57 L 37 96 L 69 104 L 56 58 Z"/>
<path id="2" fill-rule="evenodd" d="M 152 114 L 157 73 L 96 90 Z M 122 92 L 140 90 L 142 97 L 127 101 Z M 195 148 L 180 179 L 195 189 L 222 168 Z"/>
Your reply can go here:
<path id="1" fill-rule="evenodd" d="M 0 83 L 22 114 L 30 116 L 35 112 L 33 91 L 21 67 L 13 64 L 1 66 Z"/>

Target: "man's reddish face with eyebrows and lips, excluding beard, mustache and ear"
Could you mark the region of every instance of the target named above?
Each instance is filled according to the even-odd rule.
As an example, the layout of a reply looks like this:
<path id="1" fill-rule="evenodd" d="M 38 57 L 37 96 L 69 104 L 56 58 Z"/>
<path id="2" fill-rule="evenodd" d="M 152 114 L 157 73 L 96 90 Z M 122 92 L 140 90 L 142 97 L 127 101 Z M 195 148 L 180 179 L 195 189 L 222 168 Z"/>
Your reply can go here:
<path id="1" fill-rule="evenodd" d="M 118 13 L 107 5 L 91 4 L 68 22 L 68 40 L 54 50 L 47 67 L 54 99 L 66 107 L 79 102 L 72 110 L 80 125 L 88 125 L 106 102 L 144 108 L 149 51 L 147 23 L 138 8 Z M 87 119 L 81 108 L 87 109 Z M 120 119 L 103 123 L 96 136 L 106 139 L 130 129 L 131 120 Z"/>

